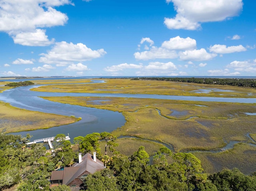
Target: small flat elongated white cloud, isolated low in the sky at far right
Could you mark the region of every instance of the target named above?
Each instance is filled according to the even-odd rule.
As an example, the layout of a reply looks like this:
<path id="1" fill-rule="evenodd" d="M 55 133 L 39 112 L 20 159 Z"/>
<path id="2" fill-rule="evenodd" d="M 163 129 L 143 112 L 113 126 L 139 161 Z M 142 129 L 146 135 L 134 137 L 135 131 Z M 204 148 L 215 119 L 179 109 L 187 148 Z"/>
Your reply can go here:
<path id="1" fill-rule="evenodd" d="M 216 44 L 216 45 L 210 46 L 210 52 L 214 52 L 218 54 L 228 54 L 228 53 L 242 52 L 242 51 L 246 51 L 246 48 L 243 47 L 242 45 L 227 47 L 226 45 Z"/>

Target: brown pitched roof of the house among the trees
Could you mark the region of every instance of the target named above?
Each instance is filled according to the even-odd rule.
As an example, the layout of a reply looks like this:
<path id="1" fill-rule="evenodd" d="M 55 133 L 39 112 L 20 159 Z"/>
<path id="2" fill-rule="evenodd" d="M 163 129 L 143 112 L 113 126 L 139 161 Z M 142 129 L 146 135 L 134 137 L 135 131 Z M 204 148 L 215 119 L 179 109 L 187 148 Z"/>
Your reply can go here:
<path id="1" fill-rule="evenodd" d="M 87 153 L 82 157 L 80 163 L 74 163 L 72 167 L 65 167 L 63 171 L 52 171 L 51 180 L 62 180 L 62 184 L 68 185 L 85 171 L 92 174 L 101 169 L 104 169 L 104 163 L 97 158 L 94 162 L 93 156 Z"/>

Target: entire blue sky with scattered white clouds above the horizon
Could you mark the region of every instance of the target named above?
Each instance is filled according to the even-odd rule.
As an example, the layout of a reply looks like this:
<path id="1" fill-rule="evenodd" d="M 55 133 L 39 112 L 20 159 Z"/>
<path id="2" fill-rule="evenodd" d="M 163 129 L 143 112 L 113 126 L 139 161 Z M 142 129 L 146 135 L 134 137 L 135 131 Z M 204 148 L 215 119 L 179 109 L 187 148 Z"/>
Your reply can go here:
<path id="1" fill-rule="evenodd" d="M 0 76 L 256 76 L 255 0 L 0 0 Z"/>

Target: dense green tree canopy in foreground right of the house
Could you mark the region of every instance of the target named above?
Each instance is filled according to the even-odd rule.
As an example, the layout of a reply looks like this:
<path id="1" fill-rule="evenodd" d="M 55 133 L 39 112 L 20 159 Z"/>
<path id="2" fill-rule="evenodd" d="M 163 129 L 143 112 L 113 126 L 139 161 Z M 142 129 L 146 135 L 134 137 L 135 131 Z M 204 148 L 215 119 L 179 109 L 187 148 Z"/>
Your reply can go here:
<path id="1" fill-rule="evenodd" d="M 238 169 L 203 173 L 201 162 L 188 153 L 173 154 L 160 148 L 148 165 L 144 147 L 130 157 L 114 156 L 108 169 L 88 175 L 86 191 L 253 191 L 256 176 L 246 176 Z"/>

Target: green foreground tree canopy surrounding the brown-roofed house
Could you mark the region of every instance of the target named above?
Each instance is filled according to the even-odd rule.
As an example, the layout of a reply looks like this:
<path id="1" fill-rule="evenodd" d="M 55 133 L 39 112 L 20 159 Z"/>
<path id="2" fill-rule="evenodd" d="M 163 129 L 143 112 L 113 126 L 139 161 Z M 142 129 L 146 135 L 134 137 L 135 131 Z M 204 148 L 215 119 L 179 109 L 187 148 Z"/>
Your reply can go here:
<path id="1" fill-rule="evenodd" d="M 18 191 L 70 191 L 66 185 L 50 188 L 50 174 L 54 169 L 68 167 L 77 161 L 64 134 L 56 135 L 55 152 L 46 152 L 43 144 L 26 146 L 26 137 L 0 134 L 0 190 L 18 185 Z M 58 141 L 57 141 L 58 140 Z M 172 153 L 160 148 L 149 164 L 150 157 L 141 146 L 131 156 L 116 152 L 116 137 L 108 132 L 92 133 L 74 138 L 79 152 L 98 152 L 106 168 L 88 175 L 86 191 L 253 191 L 256 174 L 244 175 L 238 169 L 224 169 L 208 175 L 201 161 L 190 153 Z M 105 151 L 100 152 L 104 143 Z"/>

